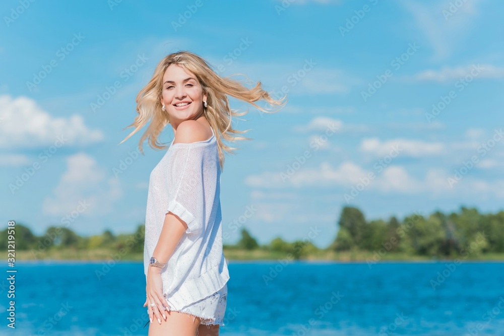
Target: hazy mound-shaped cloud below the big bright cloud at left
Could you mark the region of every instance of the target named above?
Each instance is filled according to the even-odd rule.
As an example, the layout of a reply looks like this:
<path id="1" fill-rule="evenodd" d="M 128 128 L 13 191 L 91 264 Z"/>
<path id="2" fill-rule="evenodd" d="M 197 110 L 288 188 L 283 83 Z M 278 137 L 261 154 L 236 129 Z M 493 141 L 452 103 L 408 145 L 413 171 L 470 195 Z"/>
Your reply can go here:
<path id="1" fill-rule="evenodd" d="M 51 195 L 43 201 L 43 213 L 65 216 L 86 204 L 85 216 L 101 216 L 113 210 L 122 196 L 119 179 L 107 176 L 104 169 L 87 154 L 78 153 L 67 159 L 67 170 Z"/>

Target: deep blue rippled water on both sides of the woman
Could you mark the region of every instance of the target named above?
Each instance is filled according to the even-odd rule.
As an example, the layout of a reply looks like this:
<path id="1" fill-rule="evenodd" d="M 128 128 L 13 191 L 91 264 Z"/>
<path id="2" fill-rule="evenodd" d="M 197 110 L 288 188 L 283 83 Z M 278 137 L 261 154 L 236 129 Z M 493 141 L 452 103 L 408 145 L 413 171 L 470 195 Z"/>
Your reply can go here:
<path id="1" fill-rule="evenodd" d="M 446 264 L 229 261 L 221 335 L 504 335 L 504 264 Z M 16 329 L 3 280 L 1 334 L 147 335 L 142 263 L 16 269 Z"/>

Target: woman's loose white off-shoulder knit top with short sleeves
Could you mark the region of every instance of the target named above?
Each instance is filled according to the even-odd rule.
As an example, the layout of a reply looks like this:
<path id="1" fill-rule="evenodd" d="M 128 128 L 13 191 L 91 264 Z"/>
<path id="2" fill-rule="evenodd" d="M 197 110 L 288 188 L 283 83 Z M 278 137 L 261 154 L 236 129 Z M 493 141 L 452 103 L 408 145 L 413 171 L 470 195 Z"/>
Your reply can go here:
<path id="1" fill-rule="evenodd" d="M 149 178 L 145 216 L 144 273 L 168 212 L 187 230 L 161 270 L 163 295 L 175 309 L 220 290 L 229 280 L 222 251 L 221 169 L 217 140 L 172 141 Z"/>

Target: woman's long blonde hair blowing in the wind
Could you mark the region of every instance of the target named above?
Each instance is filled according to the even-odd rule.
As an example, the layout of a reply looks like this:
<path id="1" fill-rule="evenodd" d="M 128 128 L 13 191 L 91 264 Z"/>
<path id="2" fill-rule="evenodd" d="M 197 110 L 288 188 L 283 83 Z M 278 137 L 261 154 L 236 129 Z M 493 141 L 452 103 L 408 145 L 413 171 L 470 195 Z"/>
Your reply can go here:
<path id="1" fill-rule="evenodd" d="M 158 137 L 163 128 L 168 124 L 169 115 L 161 109 L 161 95 L 163 89 L 163 75 L 171 64 L 178 64 L 182 66 L 185 71 L 190 71 L 197 77 L 198 81 L 203 87 L 203 93 L 208 94 L 207 104 L 208 106 L 204 108 L 204 115 L 208 122 L 214 129 L 215 137 L 217 140 L 217 147 L 219 152 L 219 160 L 221 169 L 224 166 L 224 151 L 235 154 L 233 150 L 237 149 L 234 147 L 226 146 L 222 140 L 236 141 L 236 140 L 251 140 L 250 138 L 236 136 L 233 137 L 232 134 L 245 133 L 248 130 L 240 131 L 236 130 L 231 125 L 231 118 L 233 116 L 242 116 L 248 113 L 248 109 L 245 112 L 238 113 L 233 111 L 229 107 L 229 100 L 226 95 L 235 97 L 247 103 L 254 105 L 259 110 L 265 113 L 275 113 L 277 111 L 268 111 L 255 102 L 258 100 L 265 100 L 270 105 L 277 105 L 282 108 L 285 103 L 287 103 L 287 96 L 276 100 L 273 99 L 268 92 L 261 88 L 261 82 L 257 82 L 254 88 L 248 89 L 243 86 L 240 82 L 231 80 L 229 77 L 220 77 L 211 68 L 210 65 L 202 57 L 185 50 L 171 53 L 164 57 L 156 66 L 154 75 L 152 76 L 149 83 L 139 92 L 137 95 L 137 113 L 135 121 L 123 128 L 122 130 L 129 127 L 136 127 L 134 131 L 130 133 L 119 144 L 128 140 L 133 136 L 140 128 L 145 126 L 145 124 L 151 120 L 149 127 L 145 131 L 144 135 L 140 139 L 139 149 L 142 154 L 144 154 L 142 149 L 142 144 L 146 138 L 149 140 L 149 146 L 153 149 L 165 149 L 166 146 L 160 146 L 162 144 L 158 143 Z M 245 75 L 243 75 L 245 76 Z M 245 76 L 246 77 L 246 76 Z M 246 77 L 248 79 L 248 77 Z M 249 81 L 250 83 L 250 81 Z M 280 109 L 279 109 L 280 110 Z"/>

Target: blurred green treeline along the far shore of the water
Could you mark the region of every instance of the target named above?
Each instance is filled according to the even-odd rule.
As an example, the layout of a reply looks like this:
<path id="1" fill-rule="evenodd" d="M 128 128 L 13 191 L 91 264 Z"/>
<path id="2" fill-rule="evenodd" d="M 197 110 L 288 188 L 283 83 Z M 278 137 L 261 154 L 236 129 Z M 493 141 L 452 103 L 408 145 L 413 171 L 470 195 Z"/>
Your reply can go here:
<path id="1" fill-rule="evenodd" d="M 316 224 L 307 228 L 310 232 L 302 240 L 286 242 L 277 237 L 266 245 L 259 245 L 246 229 L 242 229 L 241 239 L 235 245 L 224 245 L 224 248 L 265 249 L 290 254 L 295 259 L 321 250 L 371 251 L 374 260 L 381 259 L 387 252 L 454 258 L 504 252 L 504 211 L 481 214 L 477 209 L 461 207 L 459 213 L 449 215 L 414 213 L 402 221 L 396 217 L 366 221 L 359 209 L 344 207 L 336 225 L 339 228 L 336 238 L 324 249 L 312 243 L 320 234 L 313 229 Z M 31 250 L 34 258 L 46 250 L 66 248 L 107 248 L 124 255 L 143 252 L 144 230 L 142 224 L 132 234 L 114 235 L 105 230 L 100 235 L 81 237 L 67 227 L 51 226 L 42 236 L 37 236 L 27 226 L 16 224 L 15 244 L 16 250 Z M 8 249 L 8 238 L 6 228 L 0 232 L 0 246 L 4 251 Z"/>

